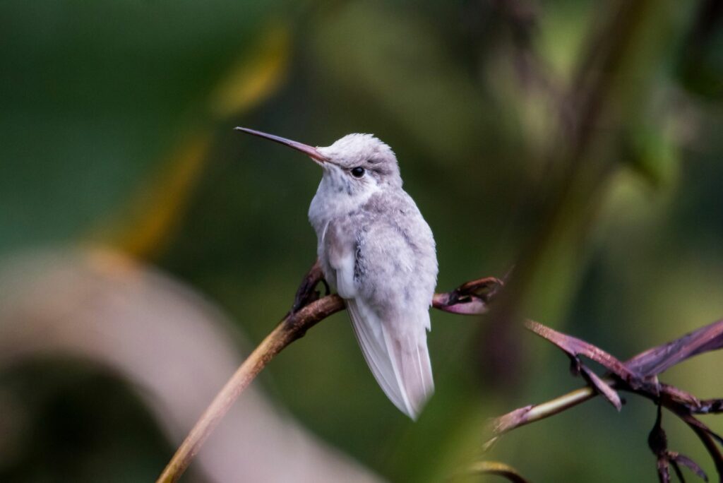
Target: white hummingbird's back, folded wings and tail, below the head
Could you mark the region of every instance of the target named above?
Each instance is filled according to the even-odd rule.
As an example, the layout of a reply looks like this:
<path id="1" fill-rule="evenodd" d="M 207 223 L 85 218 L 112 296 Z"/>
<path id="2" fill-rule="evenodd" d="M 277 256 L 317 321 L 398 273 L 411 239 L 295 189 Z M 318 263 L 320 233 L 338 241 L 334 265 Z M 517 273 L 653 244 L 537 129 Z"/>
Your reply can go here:
<path id="1" fill-rule="evenodd" d="M 434 392 L 427 330 L 437 260 L 429 226 L 408 196 L 399 197 L 381 200 L 374 218 L 362 212 L 331 223 L 322 261 L 369 369 L 395 406 L 416 419 Z M 384 213 L 391 206 L 403 209 Z"/>

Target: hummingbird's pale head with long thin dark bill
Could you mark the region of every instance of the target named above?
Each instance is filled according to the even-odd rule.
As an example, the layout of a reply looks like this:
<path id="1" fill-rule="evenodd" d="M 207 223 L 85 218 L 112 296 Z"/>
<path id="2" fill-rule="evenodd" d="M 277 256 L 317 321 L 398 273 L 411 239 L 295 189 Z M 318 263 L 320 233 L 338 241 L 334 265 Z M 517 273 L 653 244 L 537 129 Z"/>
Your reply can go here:
<path id="1" fill-rule="evenodd" d="M 314 148 L 265 132 L 237 127 L 239 131 L 265 137 L 294 148 L 312 158 L 324 170 L 324 181 L 333 191 L 364 195 L 383 187 L 401 187 L 399 165 L 392 149 L 372 134 L 347 134 L 333 145 Z"/>

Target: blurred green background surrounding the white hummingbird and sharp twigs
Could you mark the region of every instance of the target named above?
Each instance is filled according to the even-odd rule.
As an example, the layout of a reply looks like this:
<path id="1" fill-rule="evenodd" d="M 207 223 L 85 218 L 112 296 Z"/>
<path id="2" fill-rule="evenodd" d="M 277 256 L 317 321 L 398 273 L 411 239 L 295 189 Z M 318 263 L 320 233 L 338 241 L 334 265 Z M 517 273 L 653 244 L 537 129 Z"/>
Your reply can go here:
<path id="1" fill-rule="evenodd" d="M 509 273 L 509 291 L 432 314 L 416 423 L 346 315 L 325 320 L 186 481 L 432 482 L 483 459 L 656 481 L 634 396 L 481 448 L 489 417 L 581 385 L 518 317 L 621 359 L 723 317 L 722 1 L 4 0 L 0 65 L 0 480 L 153 480 L 286 313 L 320 172 L 242 125 L 376 134 L 435 233 L 438 289 Z M 722 363 L 664 380 L 722 396 Z"/>

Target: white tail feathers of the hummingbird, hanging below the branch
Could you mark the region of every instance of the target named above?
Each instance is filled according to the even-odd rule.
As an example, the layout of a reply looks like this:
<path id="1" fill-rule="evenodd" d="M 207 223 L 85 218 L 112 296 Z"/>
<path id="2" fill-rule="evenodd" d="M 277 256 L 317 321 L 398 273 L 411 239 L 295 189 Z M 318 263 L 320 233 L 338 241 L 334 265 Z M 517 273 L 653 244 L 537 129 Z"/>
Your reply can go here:
<path id="1" fill-rule="evenodd" d="M 394 405 L 416 419 L 434 391 L 424 325 L 419 334 L 396 333 L 398 324 L 381 320 L 364 302 L 347 299 L 346 306 L 372 374 Z"/>

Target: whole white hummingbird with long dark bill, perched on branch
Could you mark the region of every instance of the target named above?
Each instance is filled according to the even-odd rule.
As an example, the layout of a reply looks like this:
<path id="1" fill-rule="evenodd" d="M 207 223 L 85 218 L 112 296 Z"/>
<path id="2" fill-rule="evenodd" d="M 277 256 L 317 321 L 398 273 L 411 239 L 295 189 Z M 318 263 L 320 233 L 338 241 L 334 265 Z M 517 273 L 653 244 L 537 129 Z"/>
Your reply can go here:
<path id="1" fill-rule="evenodd" d="M 402 189 L 391 148 L 348 134 L 326 148 L 237 127 L 309 155 L 323 170 L 309 206 L 326 281 L 344 299 L 377 382 L 416 419 L 434 391 L 427 351 L 437 283 L 432 230 Z"/>

